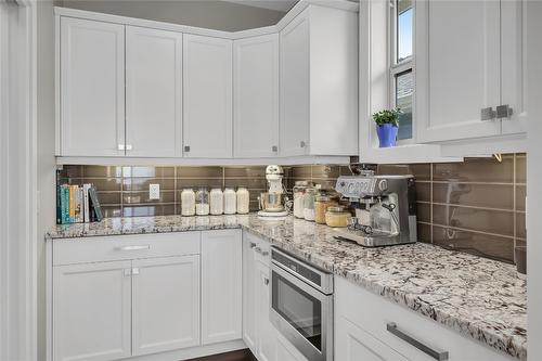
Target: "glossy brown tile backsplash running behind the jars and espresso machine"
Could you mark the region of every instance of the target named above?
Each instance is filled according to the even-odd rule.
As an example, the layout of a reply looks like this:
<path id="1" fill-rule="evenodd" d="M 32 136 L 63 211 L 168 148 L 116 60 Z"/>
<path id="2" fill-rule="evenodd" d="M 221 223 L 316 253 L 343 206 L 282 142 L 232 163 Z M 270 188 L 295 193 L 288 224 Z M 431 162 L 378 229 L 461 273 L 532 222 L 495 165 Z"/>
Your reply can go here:
<path id="1" fill-rule="evenodd" d="M 285 185 L 309 180 L 334 188 L 347 165 L 285 167 Z M 525 244 L 526 155 L 466 158 L 463 163 L 379 165 L 378 173 L 416 177 L 418 240 L 461 252 L 514 261 Z M 267 189 L 264 166 L 129 167 L 64 166 L 59 182 L 93 183 L 105 217 L 180 214 L 183 188 L 247 186 L 250 209 Z M 149 199 L 149 184 L 160 184 L 160 199 Z"/>

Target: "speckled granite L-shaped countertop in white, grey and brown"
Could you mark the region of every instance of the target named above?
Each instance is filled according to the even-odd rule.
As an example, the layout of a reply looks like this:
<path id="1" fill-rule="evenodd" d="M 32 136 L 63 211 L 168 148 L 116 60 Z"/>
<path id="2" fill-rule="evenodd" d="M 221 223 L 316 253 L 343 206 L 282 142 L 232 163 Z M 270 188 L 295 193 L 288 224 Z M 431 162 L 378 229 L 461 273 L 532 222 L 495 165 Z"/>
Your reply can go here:
<path id="1" fill-rule="evenodd" d="M 243 230 L 347 278 L 461 334 L 527 358 L 527 287 L 514 266 L 428 244 L 363 248 L 337 241 L 332 229 L 288 218 L 248 216 L 112 218 L 100 223 L 59 225 L 48 238 Z"/>

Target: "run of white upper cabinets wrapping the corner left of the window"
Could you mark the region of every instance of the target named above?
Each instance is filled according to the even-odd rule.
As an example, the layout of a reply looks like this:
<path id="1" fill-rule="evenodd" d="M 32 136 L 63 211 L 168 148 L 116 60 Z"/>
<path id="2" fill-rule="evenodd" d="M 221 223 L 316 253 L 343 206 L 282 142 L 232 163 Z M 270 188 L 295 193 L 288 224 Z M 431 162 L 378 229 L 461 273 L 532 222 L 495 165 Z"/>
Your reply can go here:
<path id="1" fill-rule="evenodd" d="M 228 33 L 55 8 L 60 163 L 348 162 L 358 9 L 300 1 L 275 26 Z"/>

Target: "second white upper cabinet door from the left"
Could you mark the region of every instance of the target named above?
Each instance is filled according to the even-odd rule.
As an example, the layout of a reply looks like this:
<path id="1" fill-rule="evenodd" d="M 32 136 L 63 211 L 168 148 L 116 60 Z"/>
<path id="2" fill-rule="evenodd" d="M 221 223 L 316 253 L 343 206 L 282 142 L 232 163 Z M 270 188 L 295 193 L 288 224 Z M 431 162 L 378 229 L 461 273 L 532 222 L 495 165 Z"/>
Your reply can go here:
<path id="1" fill-rule="evenodd" d="M 182 156 L 182 34 L 126 27 L 126 155 Z"/>

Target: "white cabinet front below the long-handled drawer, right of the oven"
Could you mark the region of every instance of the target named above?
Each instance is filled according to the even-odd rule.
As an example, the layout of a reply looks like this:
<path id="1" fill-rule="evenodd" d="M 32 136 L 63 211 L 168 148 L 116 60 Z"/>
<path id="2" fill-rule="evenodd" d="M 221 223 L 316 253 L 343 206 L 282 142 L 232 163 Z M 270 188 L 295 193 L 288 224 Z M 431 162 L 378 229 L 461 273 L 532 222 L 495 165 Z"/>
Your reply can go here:
<path id="1" fill-rule="evenodd" d="M 402 354 L 338 315 L 335 323 L 335 359 L 343 361 L 408 361 Z"/>

